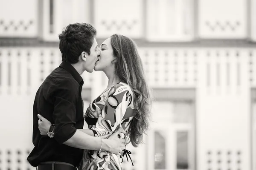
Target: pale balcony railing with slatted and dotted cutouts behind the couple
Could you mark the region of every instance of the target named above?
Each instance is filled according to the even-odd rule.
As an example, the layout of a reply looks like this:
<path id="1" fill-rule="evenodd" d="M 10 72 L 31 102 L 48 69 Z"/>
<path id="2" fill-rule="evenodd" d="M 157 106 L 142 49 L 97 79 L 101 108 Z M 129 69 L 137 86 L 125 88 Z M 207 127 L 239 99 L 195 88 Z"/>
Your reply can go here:
<path id="1" fill-rule="evenodd" d="M 227 88 L 256 86 L 256 51 L 250 48 L 140 48 L 151 87 Z M 61 63 L 58 48 L 0 48 L 0 93 L 29 94 Z M 104 88 L 103 73 L 85 72 L 84 88 Z M 244 77 L 247 77 L 244 79 Z"/>

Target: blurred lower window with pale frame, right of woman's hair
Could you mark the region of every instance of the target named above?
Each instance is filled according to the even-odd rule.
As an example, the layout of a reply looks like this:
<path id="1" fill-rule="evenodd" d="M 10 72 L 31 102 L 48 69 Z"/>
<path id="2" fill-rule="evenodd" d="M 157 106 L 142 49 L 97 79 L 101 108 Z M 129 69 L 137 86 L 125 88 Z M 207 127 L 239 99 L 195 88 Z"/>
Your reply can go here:
<path id="1" fill-rule="evenodd" d="M 191 100 L 154 102 L 148 133 L 150 170 L 195 170 L 195 113 Z"/>

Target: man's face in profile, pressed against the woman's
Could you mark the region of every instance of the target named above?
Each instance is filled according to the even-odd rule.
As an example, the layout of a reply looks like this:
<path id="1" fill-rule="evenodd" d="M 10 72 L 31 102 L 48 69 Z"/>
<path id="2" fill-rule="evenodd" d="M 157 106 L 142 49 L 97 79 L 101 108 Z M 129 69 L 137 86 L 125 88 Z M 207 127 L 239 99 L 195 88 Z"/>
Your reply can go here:
<path id="1" fill-rule="evenodd" d="M 86 62 L 85 62 L 85 70 L 89 73 L 93 72 L 93 68 L 95 67 L 95 63 L 98 60 L 98 56 L 100 55 L 98 43 L 96 39 L 93 40 L 93 45 L 90 48 L 90 55 L 87 54 Z"/>

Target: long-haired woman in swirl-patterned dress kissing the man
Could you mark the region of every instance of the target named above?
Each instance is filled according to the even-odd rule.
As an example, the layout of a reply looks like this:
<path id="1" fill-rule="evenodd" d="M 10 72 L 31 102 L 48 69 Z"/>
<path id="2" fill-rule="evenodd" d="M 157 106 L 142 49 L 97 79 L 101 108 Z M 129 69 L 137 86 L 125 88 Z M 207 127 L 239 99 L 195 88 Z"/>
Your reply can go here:
<path id="1" fill-rule="evenodd" d="M 151 98 L 145 82 L 143 65 L 135 43 L 128 37 L 113 34 L 100 46 L 95 71 L 103 71 L 108 86 L 85 113 L 88 130 L 84 133 L 108 138 L 119 127 L 126 144 L 137 147 L 148 130 Z M 42 123 L 51 123 L 47 120 Z M 40 128 L 40 127 L 39 127 Z M 48 129 L 40 129 L 48 130 Z M 104 150 L 84 150 L 80 170 L 121 170 L 120 157 Z"/>

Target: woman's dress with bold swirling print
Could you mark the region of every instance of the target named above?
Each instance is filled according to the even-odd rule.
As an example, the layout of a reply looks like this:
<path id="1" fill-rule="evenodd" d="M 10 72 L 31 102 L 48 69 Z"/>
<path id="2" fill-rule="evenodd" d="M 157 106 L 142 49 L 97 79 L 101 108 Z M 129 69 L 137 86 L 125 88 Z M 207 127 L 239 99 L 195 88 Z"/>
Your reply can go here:
<path id="1" fill-rule="evenodd" d="M 122 139 L 127 139 L 127 130 L 134 116 L 134 94 L 122 82 L 113 85 L 90 103 L 85 113 L 88 128 L 94 136 L 108 138 L 120 126 Z M 79 170 L 122 170 L 120 157 L 104 150 L 84 150 Z"/>

